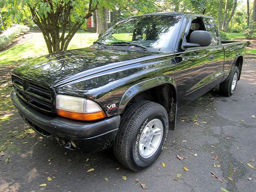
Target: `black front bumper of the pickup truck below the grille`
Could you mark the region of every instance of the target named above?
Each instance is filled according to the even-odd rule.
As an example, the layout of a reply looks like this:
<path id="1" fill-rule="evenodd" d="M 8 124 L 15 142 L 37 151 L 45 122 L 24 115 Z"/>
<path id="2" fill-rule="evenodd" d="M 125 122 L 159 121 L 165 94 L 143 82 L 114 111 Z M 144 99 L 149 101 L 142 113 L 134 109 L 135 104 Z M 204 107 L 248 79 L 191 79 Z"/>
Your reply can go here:
<path id="1" fill-rule="evenodd" d="M 93 153 L 110 147 L 116 137 L 120 115 L 94 122 L 82 122 L 40 113 L 11 92 L 11 99 L 19 114 L 41 136 L 55 139 L 71 150 Z"/>

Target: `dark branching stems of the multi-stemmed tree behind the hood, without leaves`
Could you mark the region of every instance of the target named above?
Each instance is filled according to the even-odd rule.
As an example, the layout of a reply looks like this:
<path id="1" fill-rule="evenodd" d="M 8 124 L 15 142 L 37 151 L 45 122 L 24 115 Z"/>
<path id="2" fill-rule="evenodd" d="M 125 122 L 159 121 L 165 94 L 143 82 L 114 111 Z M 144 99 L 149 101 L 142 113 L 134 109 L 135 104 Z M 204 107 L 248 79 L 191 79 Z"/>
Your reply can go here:
<path id="1" fill-rule="evenodd" d="M 51 1 L 48 1 L 51 4 Z M 53 7 L 51 5 L 51 7 Z M 51 10 L 47 16 L 40 16 L 35 7 L 29 7 L 33 21 L 40 28 L 42 35 L 46 41 L 46 46 L 49 53 L 57 53 L 68 49 L 71 39 L 79 28 L 92 16 L 92 12 L 96 10 L 98 3 L 95 7 L 92 6 L 92 0 L 90 0 L 89 9 L 87 14 L 82 18 L 82 22 L 75 22 L 73 26 L 69 28 L 69 32 L 66 35 L 67 26 L 71 23 L 70 13 L 72 5 L 59 4 L 55 11 Z M 60 35 L 61 30 L 61 35 Z M 65 36 L 66 35 L 66 36 Z"/>

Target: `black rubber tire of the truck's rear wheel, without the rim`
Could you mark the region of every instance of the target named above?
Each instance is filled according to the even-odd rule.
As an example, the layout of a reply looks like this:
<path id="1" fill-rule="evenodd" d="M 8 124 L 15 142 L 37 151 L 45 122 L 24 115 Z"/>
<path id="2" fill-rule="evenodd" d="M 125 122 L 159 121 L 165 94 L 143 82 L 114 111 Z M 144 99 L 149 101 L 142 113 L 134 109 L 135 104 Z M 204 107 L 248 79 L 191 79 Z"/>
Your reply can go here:
<path id="1" fill-rule="evenodd" d="M 234 79 L 234 76 L 237 76 L 237 80 L 236 80 L 236 85 L 234 86 L 234 88 L 232 89 L 232 82 L 233 82 L 233 79 Z M 220 83 L 220 93 L 223 95 L 223 96 L 226 96 L 226 97 L 229 97 L 231 96 L 234 91 L 236 90 L 237 88 L 237 83 L 238 83 L 238 77 L 239 77 L 239 70 L 238 70 L 238 67 L 237 66 L 234 66 L 232 71 L 230 72 L 229 74 L 229 77 L 227 80 L 225 80 L 224 82 Z"/>

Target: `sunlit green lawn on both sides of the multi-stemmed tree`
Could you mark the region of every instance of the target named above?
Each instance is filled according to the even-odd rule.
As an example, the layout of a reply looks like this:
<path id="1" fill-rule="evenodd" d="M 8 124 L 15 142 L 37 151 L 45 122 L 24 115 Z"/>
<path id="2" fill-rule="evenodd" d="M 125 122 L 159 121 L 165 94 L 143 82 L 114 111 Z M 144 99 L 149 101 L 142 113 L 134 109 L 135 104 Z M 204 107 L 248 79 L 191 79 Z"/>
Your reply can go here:
<path id="1" fill-rule="evenodd" d="M 89 47 L 97 40 L 96 33 L 76 33 L 68 49 Z M 32 38 L 0 53 L 0 66 L 48 54 L 42 33 L 32 33 Z"/>

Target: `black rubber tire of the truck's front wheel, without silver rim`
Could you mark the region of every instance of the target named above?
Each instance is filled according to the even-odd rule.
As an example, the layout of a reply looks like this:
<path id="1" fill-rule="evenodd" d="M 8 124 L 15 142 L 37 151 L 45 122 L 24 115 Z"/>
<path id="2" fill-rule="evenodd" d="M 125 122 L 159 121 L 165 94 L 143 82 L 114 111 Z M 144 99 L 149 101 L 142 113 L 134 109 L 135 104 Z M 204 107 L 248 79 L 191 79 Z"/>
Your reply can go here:
<path id="1" fill-rule="evenodd" d="M 157 119 L 157 120 L 156 120 Z M 163 132 L 156 151 L 148 158 L 142 158 L 138 142 L 148 122 L 162 123 Z M 159 121 L 160 120 L 160 121 Z M 160 124 L 161 124 L 160 123 Z M 154 125 L 152 126 L 154 127 Z M 153 128 L 154 129 L 154 128 Z M 168 133 L 168 115 L 164 107 L 152 101 L 139 101 L 125 110 L 114 142 L 114 155 L 125 167 L 138 171 L 154 163 L 163 150 Z M 141 134 L 141 135 L 140 135 Z M 144 137 L 142 137 L 144 139 Z M 153 141 L 153 140 L 152 140 Z"/>

